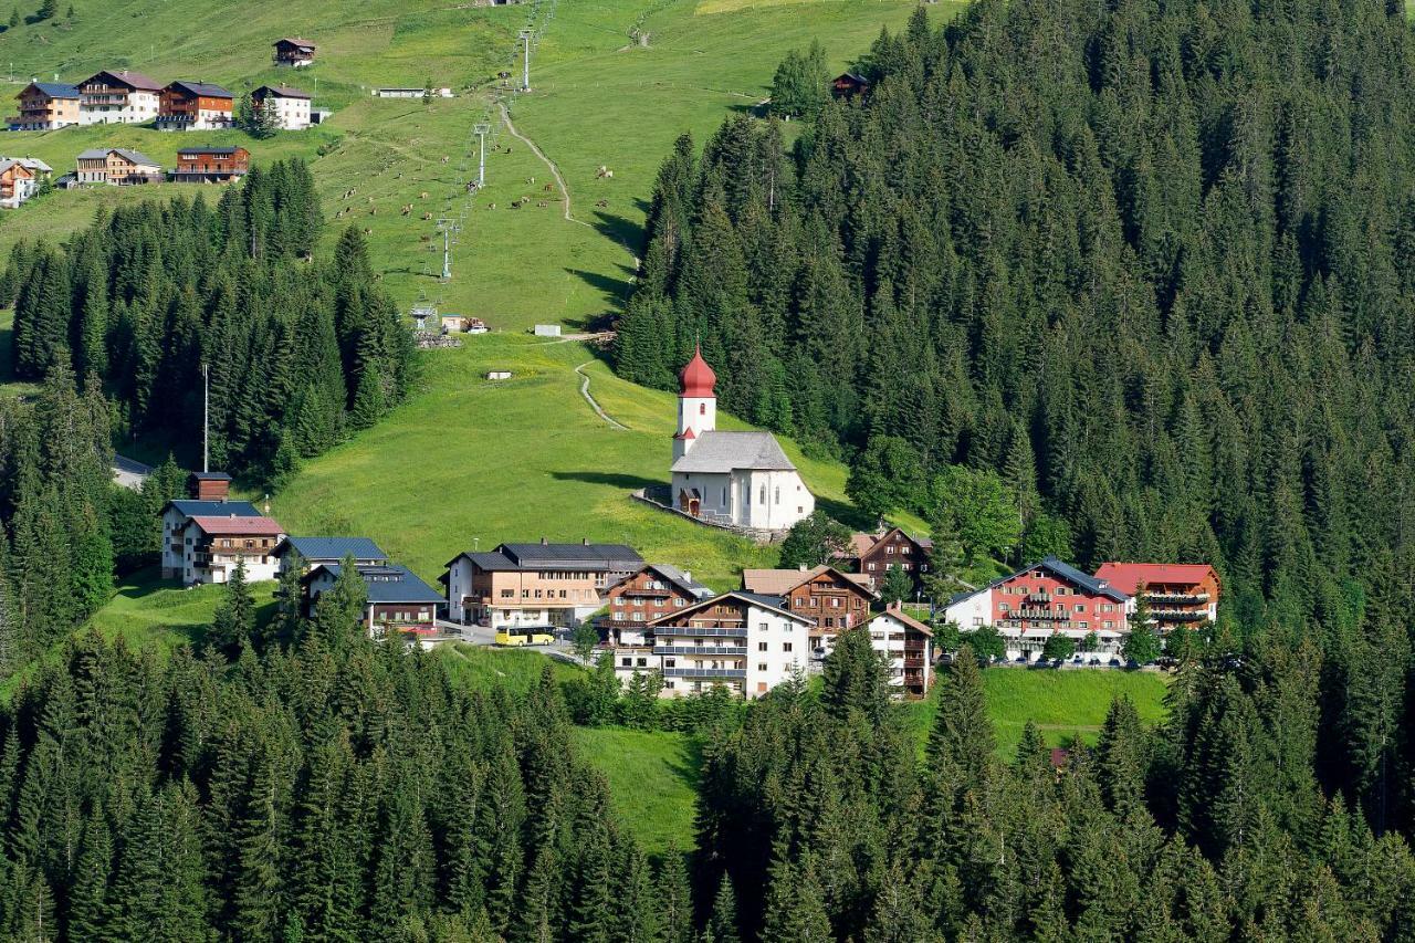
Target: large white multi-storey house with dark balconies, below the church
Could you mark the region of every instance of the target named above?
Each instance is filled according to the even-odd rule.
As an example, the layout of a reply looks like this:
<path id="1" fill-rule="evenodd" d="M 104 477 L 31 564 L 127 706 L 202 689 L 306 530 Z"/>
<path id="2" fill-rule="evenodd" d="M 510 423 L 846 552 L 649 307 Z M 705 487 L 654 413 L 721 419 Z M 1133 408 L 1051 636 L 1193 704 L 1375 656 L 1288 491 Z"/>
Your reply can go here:
<path id="1" fill-rule="evenodd" d="M 661 697 L 683 697 L 723 685 L 758 698 L 804 675 L 812 622 L 782 605 L 780 596 L 734 590 L 698 600 L 648 624 L 642 647 L 608 648 L 623 682 L 634 674 L 662 675 Z"/>

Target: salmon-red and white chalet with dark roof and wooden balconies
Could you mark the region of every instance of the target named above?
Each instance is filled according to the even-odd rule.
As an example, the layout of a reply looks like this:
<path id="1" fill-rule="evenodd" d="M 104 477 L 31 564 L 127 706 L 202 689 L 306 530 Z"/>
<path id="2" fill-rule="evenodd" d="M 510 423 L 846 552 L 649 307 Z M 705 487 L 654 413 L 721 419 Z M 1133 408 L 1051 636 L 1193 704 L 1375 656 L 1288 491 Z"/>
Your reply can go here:
<path id="1" fill-rule="evenodd" d="M 1118 651 L 1129 633 L 1126 612 L 1132 605 L 1128 593 L 1047 556 L 982 589 L 954 596 L 945 615 L 965 633 L 996 627 L 1009 658 L 1032 661 L 1058 633 L 1077 641 L 1095 633 L 1101 653 Z"/>

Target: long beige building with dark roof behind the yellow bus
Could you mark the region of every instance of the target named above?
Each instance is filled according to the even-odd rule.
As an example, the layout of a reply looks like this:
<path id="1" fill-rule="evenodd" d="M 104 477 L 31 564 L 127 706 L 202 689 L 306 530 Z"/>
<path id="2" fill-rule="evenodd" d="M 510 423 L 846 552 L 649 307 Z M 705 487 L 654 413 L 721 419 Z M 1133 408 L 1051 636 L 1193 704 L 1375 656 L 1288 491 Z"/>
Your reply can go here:
<path id="1" fill-rule="evenodd" d="M 501 544 L 447 561 L 449 617 L 492 629 L 576 626 L 644 558 L 623 544 Z"/>

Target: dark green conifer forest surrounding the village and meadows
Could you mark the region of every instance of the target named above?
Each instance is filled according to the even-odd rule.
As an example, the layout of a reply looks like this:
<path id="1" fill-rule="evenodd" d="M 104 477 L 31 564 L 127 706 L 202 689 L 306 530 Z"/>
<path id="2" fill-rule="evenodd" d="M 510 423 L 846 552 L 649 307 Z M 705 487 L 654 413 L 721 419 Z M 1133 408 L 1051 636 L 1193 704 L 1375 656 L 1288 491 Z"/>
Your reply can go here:
<path id="1" fill-rule="evenodd" d="M 275 487 L 410 391 L 406 319 L 290 160 L 0 275 L 35 391 L 0 398 L 0 940 L 1415 940 L 1404 4 L 928 10 L 857 51 L 867 92 L 812 47 L 678 140 L 610 357 L 676 391 L 700 344 L 726 411 L 928 521 L 937 571 L 1211 562 L 1165 719 L 1118 698 L 1092 746 L 1003 755 L 1010 668 L 957 627 L 925 714 L 865 627 L 750 702 L 608 660 L 467 685 L 368 637 L 352 565 L 308 613 L 297 575 L 272 613 L 233 578 L 170 653 L 83 630 L 184 488 L 116 487 L 113 443 L 195 435 L 202 368 L 212 466 Z M 947 513 L 993 491 L 1006 538 Z M 576 725 L 693 738 L 681 847 L 645 851 Z"/>

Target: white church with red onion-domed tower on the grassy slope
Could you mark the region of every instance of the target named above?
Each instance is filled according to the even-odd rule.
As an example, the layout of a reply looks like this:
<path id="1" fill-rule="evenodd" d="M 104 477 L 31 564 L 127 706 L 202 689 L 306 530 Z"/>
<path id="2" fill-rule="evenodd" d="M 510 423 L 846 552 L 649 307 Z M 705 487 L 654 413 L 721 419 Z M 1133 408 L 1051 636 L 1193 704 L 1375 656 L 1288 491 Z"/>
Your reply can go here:
<path id="1" fill-rule="evenodd" d="M 672 496 L 679 511 L 712 524 L 784 531 L 815 510 L 774 435 L 717 429 L 717 375 L 702 350 L 678 379 Z"/>

